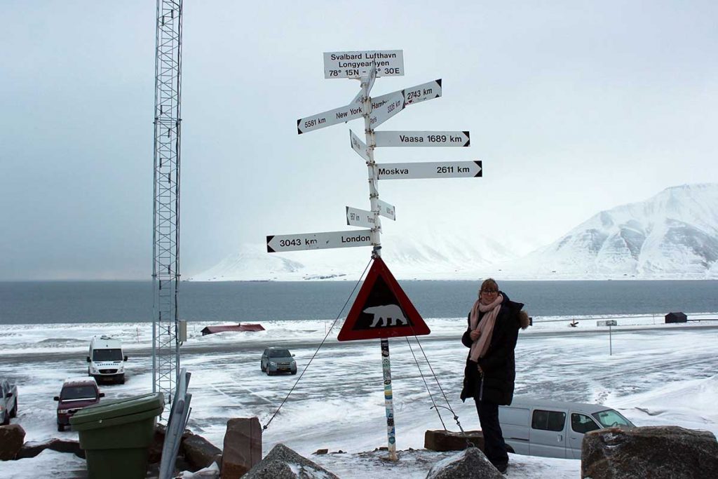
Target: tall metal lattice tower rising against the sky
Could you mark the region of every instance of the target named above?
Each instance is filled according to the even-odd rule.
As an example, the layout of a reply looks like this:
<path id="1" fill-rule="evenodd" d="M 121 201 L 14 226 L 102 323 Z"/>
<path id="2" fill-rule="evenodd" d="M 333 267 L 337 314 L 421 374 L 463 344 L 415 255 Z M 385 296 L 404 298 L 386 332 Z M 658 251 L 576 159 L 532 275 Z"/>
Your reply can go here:
<path id="1" fill-rule="evenodd" d="M 157 0 L 154 65 L 152 391 L 172 401 L 180 374 L 180 99 L 182 0 Z"/>

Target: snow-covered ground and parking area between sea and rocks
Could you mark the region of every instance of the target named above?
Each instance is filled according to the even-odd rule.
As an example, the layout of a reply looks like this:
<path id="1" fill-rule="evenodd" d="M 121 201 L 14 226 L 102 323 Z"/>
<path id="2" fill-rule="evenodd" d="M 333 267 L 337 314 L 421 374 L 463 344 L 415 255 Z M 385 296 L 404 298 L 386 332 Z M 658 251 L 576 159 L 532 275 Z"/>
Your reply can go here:
<path id="1" fill-rule="evenodd" d="M 596 325 L 608 318 L 577 317 L 579 326 L 568 327 L 564 317 L 535 317 L 535 325 L 519 335 L 516 394 L 597 402 L 620 410 L 638 425 L 677 424 L 718 434 L 718 322 L 663 325 L 654 324 L 658 320 L 650 316 L 613 317 L 618 326 L 612 328 L 609 344 L 607 328 Z M 330 321 L 264 322 L 264 332 L 204 337 L 200 330 L 205 323 L 190 325 L 190 338 L 182 346 L 182 366 L 192 372 L 189 427 L 221 448 L 227 419 L 256 416 L 264 426 L 299 379 L 264 431 L 264 453 L 283 442 L 342 478 L 423 478 L 432 462 L 447 453 L 409 448 L 423 448 L 424 431 L 442 429 L 442 420 L 447 429 L 459 429 L 447 409 L 438 408 L 441 419 L 432 409 L 422 374 L 434 401 L 447 403 L 424 353 L 462 427 L 478 429 L 474 404 L 463 404 L 458 397 L 466 355 L 460 343 L 465 319 L 426 322 L 432 334 L 419 338 L 421 348 L 414 338 L 390 342 L 396 440 L 398 450 L 405 451 L 396 464 L 383 459 L 386 452 L 372 452 L 386 445 L 378 340 L 338 343 L 340 324 L 330 331 Z M 327 341 L 300 377 L 327 332 Z M 13 422 L 22 424 L 27 441 L 77 439 L 77 432 L 57 432 L 52 396 L 65 377 L 86 373 L 88 343 L 97 334 L 121 338 L 129 355 L 126 383 L 101 386 L 106 396 L 151 391 L 148 323 L 6 325 L 0 332 L 0 371 L 18 383 L 19 414 Z M 261 373 L 259 357 L 268 345 L 292 350 L 300 374 Z M 347 453 L 312 455 L 320 448 Z M 580 475 L 578 460 L 512 455 L 511 461 L 511 478 L 545 477 L 549 470 L 554 478 Z M 29 460 L 0 462 L 0 476 L 34 478 L 38 468 L 53 477 L 73 477 L 83 462 L 47 451 Z"/>

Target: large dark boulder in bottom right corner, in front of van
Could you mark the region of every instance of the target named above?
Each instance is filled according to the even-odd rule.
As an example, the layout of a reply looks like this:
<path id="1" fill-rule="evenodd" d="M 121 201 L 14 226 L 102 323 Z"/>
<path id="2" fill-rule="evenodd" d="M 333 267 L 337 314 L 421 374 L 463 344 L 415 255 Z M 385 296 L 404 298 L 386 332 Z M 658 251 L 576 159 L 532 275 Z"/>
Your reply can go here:
<path id="1" fill-rule="evenodd" d="M 584 434 L 581 454 L 582 478 L 718 478 L 718 442 L 709 431 L 598 429 Z"/>

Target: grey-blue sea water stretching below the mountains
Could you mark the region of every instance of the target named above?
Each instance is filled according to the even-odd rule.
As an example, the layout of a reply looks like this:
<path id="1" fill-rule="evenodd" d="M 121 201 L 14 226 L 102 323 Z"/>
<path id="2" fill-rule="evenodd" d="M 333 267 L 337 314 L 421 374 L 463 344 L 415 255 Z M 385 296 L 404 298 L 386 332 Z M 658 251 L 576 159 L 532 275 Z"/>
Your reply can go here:
<path id="1" fill-rule="evenodd" d="M 426 318 L 465 317 L 479 282 L 401 281 Z M 258 322 L 346 316 L 355 282 L 182 282 L 180 319 Z M 718 281 L 502 281 L 535 317 L 718 312 Z M 0 324 L 151 322 L 151 282 L 0 282 Z"/>

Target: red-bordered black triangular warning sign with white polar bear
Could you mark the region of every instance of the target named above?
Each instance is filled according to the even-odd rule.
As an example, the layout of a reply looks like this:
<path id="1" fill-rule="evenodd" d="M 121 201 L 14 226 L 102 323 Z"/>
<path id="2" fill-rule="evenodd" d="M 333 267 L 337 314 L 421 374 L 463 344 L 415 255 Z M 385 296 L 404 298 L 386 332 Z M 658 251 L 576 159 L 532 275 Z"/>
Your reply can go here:
<path id="1" fill-rule="evenodd" d="M 375 258 L 337 339 L 428 335 L 429 327 L 381 258 Z"/>

